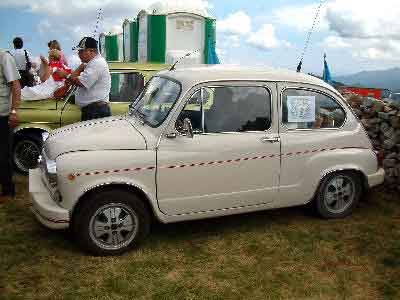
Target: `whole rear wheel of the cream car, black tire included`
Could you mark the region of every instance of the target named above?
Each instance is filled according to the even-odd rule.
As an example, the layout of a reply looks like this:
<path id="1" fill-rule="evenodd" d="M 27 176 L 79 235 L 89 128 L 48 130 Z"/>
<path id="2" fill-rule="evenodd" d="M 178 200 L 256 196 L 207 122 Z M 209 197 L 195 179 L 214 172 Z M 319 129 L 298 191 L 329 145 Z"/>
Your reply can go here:
<path id="1" fill-rule="evenodd" d="M 355 172 L 336 172 L 326 176 L 318 189 L 315 209 L 325 219 L 344 218 L 352 213 L 362 193 L 361 179 Z"/>

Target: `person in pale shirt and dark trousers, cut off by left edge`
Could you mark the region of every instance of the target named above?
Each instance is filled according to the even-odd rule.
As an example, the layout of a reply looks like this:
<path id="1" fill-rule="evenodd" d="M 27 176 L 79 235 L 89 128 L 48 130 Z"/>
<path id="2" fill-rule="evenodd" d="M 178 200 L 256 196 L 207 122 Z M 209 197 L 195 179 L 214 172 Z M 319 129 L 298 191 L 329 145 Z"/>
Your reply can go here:
<path id="1" fill-rule="evenodd" d="M 18 123 L 16 110 L 21 100 L 20 78 L 14 58 L 9 52 L 0 49 L 0 203 L 15 195 L 10 128 Z"/>

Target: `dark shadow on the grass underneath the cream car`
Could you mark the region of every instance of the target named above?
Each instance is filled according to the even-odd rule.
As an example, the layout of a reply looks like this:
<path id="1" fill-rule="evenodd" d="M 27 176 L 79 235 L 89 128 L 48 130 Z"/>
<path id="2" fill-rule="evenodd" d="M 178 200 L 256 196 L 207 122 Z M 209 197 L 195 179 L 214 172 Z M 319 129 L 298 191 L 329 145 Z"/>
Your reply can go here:
<path id="1" fill-rule="evenodd" d="M 313 205 L 279 208 L 245 214 L 237 214 L 202 220 L 185 221 L 178 223 L 162 224 L 155 221 L 148 240 L 142 247 L 153 247 L 155 244 L 168 244 L 192 239 L 209 239 L 223 235 L 237 235 L 246 233 L 263 233 L 290 230 L 303 230 L 304 228 L 319 234 L 321 228 L 329 226 L 342 226 L 355 223 L 368 223 L 366 219 L 380 210 L 382 215 L 391 216 L 395 212 L 380 201 L 388 201 L 392 197 L 385 194 L 382 188 L 373 189 L 365 194 L 351 216 L 344 219 L 326 220 L 320 218 Z M 314 228 L 314 229 L 313 229 Z"/>

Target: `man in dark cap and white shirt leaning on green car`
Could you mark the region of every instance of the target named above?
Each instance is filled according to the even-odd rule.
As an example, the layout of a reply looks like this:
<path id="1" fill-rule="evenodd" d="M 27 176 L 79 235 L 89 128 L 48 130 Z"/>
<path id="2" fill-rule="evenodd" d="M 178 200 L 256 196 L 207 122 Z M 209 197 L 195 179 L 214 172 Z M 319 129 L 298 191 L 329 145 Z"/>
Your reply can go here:
<path id="1" fill-rule="evenodd" d="M 106 60 L 97 50 L 97 41 L 91 37 L 84 37 L 78 46 L 72 49 L 78 50 L 82 64 L 72 74 L 63 71 L 57 73 L 78 86 L 75 103 L 81 107 L 82 121 L 111 116 L 111 76 Z"/>

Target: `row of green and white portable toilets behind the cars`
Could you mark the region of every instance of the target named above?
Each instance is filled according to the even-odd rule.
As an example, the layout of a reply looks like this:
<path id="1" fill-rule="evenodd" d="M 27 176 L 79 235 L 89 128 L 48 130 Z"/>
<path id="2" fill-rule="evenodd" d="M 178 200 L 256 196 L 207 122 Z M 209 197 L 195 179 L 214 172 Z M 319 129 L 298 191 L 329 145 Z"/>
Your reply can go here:
<path id="1" fill-rule="evenodd" d="M 215 19 L 190 4 L 156 3 L 122 28 L 124 61 L 172 64 L 191 52 L 182 63 L 210 63 L 209 45 L 215 47 Z"/>

